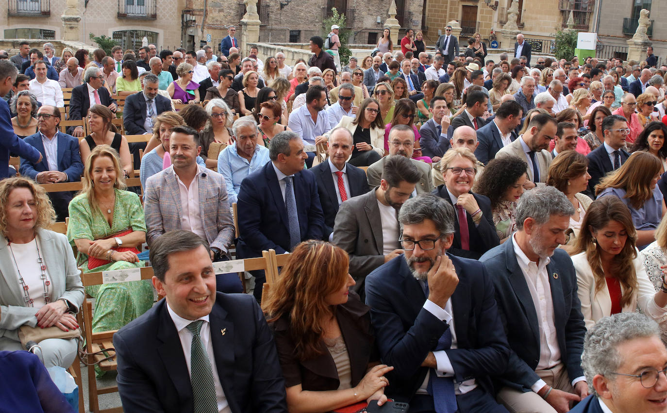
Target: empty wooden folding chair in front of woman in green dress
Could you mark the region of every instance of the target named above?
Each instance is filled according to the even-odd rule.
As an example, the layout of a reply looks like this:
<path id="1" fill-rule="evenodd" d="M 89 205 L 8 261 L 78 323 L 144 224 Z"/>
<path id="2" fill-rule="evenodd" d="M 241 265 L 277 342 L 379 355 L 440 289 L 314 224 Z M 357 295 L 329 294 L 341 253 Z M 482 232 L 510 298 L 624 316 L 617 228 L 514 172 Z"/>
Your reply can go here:
<path id="1" fill-rule="evenodd" d="M 139 269 L 141 272 L 141 280 L 150 280 L 153 278 L 153 268 L 152 267 L 142 267 Z M 110 276 L 107 276 L 107 281 L 102 276 L 102 272 L 90 272 L 88 274 L 81 274 L 81 282 L 83 286 L 99 286 L 100 284 L 108 284 L 109 282 L 125 282 L 121 281 L 121 273 L 127 270 L 117 270 L 108 272 Z M 107 272 L 105 272 L 107 273 Z M 118 275 L 118 277 L 115 277 Z M 130 281 L 130 280 L 127 280 Z M 133 280 L 132 280 L 133 281 Z M 110 330 L 105 332 L 93 333 L 93 305 L 91 301 L 87 298 L 83 299 L 82 311 L 79 312 L 79 326 L 83 327 L 83 336 L 85 337 L 85 346 L 84 353 L 79 354 L 81 361 L 87 366 L 88 369 L 88 406 L 89 410 L 94 413 L 110 413 L 110 412 L 123 412 L 122 407 L 109 408 L 105 410 L 99 409 L 99 395 L 115 393 L 118 391 L 118 386 L 97 386 L 97 380 L 95 378 L 95 364 L 104 371 L 113 371 L 117 369 L 116 361 L 116 352 L 113 348 L 113 334 L 117 330 Z"/>

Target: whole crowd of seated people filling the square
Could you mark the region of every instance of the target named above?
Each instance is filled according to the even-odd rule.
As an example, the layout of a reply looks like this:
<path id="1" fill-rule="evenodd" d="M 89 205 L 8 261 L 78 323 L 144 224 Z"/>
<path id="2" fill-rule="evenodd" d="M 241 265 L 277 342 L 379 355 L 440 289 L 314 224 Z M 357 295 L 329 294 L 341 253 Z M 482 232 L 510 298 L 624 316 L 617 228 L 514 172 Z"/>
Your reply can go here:
<path id="1" fill-rule="evenodd" d="M 467 59 L 386 51 L 339 72 L 321 37 L 310 61 L 259 61 L 234 33 L 220 57 L 0 53 L 0 350 L 22 326 L 77 328 L 87 294 L 93 332 L 119 330 L 129 411 L 626 411 L 591 340 L 643 323 L 642 345 L 667 343 L 667 67 L 531 66 L 520 35 L 498 63 L 474 36 Z M 152 282 L 83 288 L 77 267 L 139 268 L 143 248 Z M 267 291 L 251 272 L 253 297 L 213 270 L 271 249 L 291 255 Z M 164 326 L 173 366 L 136 345 Z M 43 342 L 45 364 L 69 367 L 73 343 Z M 652 366 L 619 374 L 659 392 Z M 187 374 L 181 398 L 167 378 Z"/>

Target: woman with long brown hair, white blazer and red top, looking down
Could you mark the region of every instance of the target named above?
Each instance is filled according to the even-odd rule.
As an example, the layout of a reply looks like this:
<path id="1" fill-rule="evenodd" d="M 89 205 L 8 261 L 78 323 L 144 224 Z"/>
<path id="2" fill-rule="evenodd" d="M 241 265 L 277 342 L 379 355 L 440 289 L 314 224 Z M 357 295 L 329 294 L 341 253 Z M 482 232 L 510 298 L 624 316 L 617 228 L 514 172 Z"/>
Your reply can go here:
<path id="1" fill-rule="evenodd" d="M 635 242 L 630 210 L 620 199 L 590 204 L 572 256 L 586 328 L 637 307 L 658 323 L 667 320 L 667 286 L 654 290 Z"/>

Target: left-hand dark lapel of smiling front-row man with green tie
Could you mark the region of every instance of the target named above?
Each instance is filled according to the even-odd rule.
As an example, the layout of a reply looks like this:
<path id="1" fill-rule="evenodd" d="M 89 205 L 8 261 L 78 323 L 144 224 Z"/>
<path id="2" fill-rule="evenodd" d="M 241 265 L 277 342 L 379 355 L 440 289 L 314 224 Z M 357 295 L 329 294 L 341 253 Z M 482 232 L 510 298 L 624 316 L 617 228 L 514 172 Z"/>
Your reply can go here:
<path id="1" fill-rule="evenodd" d="M 169 317 L 165 300 L 161 300 L 157 305 L 161 306 L 157 310 L 159 313 L 157 340 L 161 342 L 157 346 L 157 353 L 176 389 L 181 406 L 192 406 L 192 386 L 190 375 L 187 372 L 187 364 L 185 364 L 185 354 L 183 354 L 181 339 L 178 336 L 173 320 Z"/>

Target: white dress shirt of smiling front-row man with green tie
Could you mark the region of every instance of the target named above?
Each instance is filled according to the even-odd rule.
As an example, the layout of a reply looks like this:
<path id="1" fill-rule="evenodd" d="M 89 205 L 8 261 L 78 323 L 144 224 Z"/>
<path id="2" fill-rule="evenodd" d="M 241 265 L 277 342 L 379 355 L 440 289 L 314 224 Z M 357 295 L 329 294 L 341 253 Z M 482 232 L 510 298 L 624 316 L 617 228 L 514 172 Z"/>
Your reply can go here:
<path id="1" fill-rule="evenodd" d="M 181 340 L 181 348 L 183 348 L 183 356 L 185 356 L 185 365 L 187 366 L 187 373 L 192 374 L 190 364 L 191 364 L 191 350 L 192 350 L 192 337 L 193 334 L 190 330 L 187 330 L 188 324 L 197 320 L 203 320 L 201 324 L 201 330 L 199 330 L 199 337 L 201 338 L 201 344 L 203 344 L 206 349 L 206 354 L 209 357 L 211 362 L 211 370 L 213 370 L 213 384 L 215 384 L 215 396 L 217 397 L 217 411 L 219 413 L 231 413 L 229 408 L 229 403 L 227 402 L 227 397 L 225 396 L 225 391 L 220 384 L 220 377 L 217 374 L 217 368 L 215 366 L 215 354 L 213 354 L 213 343 L 211 342 L 211 324 L 209 324 L 209 316 L 203 316 L 197 318 L 197 320 L 187 320 L 182 318 L 169 307 L 167 304 L 167 311 L 173 321 L 176 331 L 178 332 L 178 338 Z"/>

